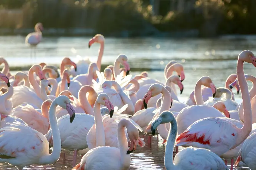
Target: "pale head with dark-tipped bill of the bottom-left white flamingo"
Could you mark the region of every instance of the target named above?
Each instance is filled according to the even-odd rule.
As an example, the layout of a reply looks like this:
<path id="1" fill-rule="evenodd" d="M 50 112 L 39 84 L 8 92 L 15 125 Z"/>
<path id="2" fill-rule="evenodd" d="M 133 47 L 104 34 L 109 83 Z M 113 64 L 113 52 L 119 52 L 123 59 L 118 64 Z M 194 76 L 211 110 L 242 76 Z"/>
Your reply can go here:
<path id="1" fill-rule="evenodd" d="M 56 99 L 54 99 L 53 102 L 56 102 L 60 107 L 68 111 L 70 116 L 70 123 L 72 123 L 75 119 L 76 112 L 73 106 L 71 105 L 69 98 L 65 95 L 60 95 Z"/>

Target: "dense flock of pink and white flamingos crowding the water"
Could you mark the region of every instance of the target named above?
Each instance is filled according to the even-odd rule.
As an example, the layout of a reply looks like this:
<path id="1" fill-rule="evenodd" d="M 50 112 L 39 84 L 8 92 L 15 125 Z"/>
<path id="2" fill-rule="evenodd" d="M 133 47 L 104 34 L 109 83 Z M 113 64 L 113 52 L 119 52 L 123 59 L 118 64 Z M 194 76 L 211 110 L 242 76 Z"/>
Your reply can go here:
<path id="1" fill-rule="evenodd" d="M 177 98 L 184 88 L 183 65 L 166 65 L 165 84 L 147 72 L 129 75 L 124 54 L 100 72 L 104 42 L 100 34 L 89 40 L 89 47 L 101 45 L 96 63 L 66 57 L 59 69 L 40 63 L 14 76 L 0 58 L 0 163 L 21 170 L 53 164 L 60 152 L 73 151 L 72 170 L 128 170 L 130 153 L 145 145 L 139 137 L 144 133 L 147 142 L 159 134 L 167 143 L 167 170 L 228 170 L 227 159 L 231 169 L 234 164 L 256 170 L 256 85 L 250 91 L 247 85 L 256 78 L 243 71 L 244 62 L 256 67 L 251 51 L 238 55 L 236 74 L 225 87 L 203 76 L 185 104 Z M 232 88 L 241 91 L 242 103 L 234 101 Z M 178 146 L 185 148 L 178 152 Z M 83 157 L 76 164 L 78 154 Z"/>

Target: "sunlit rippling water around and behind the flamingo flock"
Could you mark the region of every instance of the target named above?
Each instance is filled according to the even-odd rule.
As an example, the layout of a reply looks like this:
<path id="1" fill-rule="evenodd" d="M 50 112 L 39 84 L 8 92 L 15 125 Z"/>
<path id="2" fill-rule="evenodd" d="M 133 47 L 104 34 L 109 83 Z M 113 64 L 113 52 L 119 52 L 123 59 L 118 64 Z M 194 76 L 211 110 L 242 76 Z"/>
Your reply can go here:
<path id="1" fill-rule="evenodd" d="M 64 56 L 78 60 L 77 55 L 90 57 L 96 61 L 98 44 L 88 49 L 91 37 L 43 37 L 38 45 L 36 58 L 30 57 L 30 48 L 24 45 L 22 36 L 0 37 L 0 55 L 5 57 L 10 67 L 27 66 L 39 62 L 59 65 Z M 235 39 L 223 37 L 219 39 L 158 39 L 158 38 L 106 38 L 103 64 L 114 64 L 118 54 L 126 54 L 132 69 L 143 71 L 150 69 L 149 76 L 164 82 L 163 69 L 170 60 L 181 62 L 185 68 L 186 78 L 183 81 L 184 91 L 179 98 L 184 101 L 201 76 L 208 75 L 217 87 L 223 87 L 230 74 L 236 73 L 238 54 L 243 50 L 256 51 L 256 38 L 244 37 Z M 246 74 L 255 75 L 252 64 L 245 64 Z M 16 71 L 14 71 L 16 72 Z M 249 86 L 251 86 L 249 82 Z M 240 95 L 236 96 L 241 101 Z M 162 141 L 152 138 L 151 146 L 137 147 L 131 154 L 131 170 L 162 170 L 164 168 L 165 145 Z M 80 161 L 81 157 L 78 157 Z M 229 163 L 230 164 L 230 163 Z M 60 160 L 53 166 L 28 166 L 26 169 L 72 169 L 72 153 L 63 153 Z M 15 169 L 7 164 L 1 164 L 0 169 Z M 246 168 L 244 168 L 246 169 Z"/>

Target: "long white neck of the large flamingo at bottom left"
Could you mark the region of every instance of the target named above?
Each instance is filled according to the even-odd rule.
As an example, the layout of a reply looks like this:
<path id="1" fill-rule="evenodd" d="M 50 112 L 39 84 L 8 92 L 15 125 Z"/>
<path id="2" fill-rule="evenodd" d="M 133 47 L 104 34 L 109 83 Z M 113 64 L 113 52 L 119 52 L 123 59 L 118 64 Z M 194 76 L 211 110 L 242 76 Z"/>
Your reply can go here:
<path id="1" fill-rule="evenodd" d="M 47 151 L 46 155 L 41 156 L 39 160 L 39 164 L 53 164 L 57 160 L 59 160 L 59 157 L 60 157 L 61 141 L 60 141 L 60 133 L 59 133 L 57 118 L 56 118 L 57 105 L 58 104 L 56 103 L 56 99 L 55 99 L 52 102 L 49 109 L 49 123 L 52 129 L 52 140 L 53 140 L 52 154 L 49 154 L 49 151 Z M 42 145 L 46 145 L 46 144 L 42 144 Z M 48 144 L 47 144 L 47 147 L 49 147 Z"/>

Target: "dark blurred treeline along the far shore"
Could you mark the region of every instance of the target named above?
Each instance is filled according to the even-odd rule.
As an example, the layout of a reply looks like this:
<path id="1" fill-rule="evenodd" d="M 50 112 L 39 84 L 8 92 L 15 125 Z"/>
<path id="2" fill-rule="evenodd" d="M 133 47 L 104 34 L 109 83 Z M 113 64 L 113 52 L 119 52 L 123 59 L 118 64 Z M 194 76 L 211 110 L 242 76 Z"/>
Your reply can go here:
<path id="1" fill-rule="evenodd" d="M 0 0 L 0 28 L 92 28 L 129 36 L 256 34 L 256 0 Z M 153 5 L 153 6 L 152 6 Z"/>

